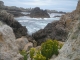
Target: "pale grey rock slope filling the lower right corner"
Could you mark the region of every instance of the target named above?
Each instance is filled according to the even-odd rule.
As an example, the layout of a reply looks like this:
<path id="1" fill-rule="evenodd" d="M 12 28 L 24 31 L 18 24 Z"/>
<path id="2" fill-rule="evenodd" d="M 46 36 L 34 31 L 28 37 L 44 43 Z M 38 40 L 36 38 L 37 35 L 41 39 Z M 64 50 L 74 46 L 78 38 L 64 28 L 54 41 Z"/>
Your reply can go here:
<path id="1" fill-rule="evenodd" d="M 80 60 L 80 20 L 75 22 L 75 26 L 58 57 L 51 60 Z"/>

